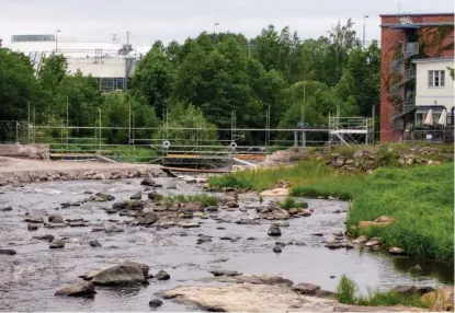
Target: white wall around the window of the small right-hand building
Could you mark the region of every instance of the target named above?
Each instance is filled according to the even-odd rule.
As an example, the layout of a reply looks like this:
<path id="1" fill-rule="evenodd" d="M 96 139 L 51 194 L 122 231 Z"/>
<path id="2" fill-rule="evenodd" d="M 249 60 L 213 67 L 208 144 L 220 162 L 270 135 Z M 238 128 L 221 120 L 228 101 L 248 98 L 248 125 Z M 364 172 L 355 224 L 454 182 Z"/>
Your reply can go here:
<path id="1" fill-rule="evenodd" d="M 454 82 L 447 67 L 454 67 L 454 60 L 429 60 L 416 62 L 416 105 L 443 105 L 450 112 L 454 106 Z M 445 71 L 444 86 L 429 86 L 429 71 Z"/>

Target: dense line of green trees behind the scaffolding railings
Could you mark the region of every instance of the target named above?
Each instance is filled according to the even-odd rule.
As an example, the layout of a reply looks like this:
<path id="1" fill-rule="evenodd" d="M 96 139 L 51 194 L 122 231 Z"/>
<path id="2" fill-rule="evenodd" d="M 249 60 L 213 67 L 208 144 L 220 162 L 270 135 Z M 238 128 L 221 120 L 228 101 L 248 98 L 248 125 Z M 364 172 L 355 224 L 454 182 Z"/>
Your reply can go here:
<path id="1" fill-rule="evenodd" d="M 29 57 L 0 49 L 0 120 L 26 120 L 29 102 L 34 123 L 46 126 L 66 125 L 68 118 L 77 127 L 128 127 L 129 106 L 135 127 L 144 128 L 171 123 L 228 129 L 234 111 L 239 128 L 265 128 L 268 109 L 271 128 L 326 125 L 337 111 L 371 116 L 373 105 L 378 109 L 380 50 L 377 42 L 362 47 L 352 26 L 351 20 L 339 22 L 326 36 L 305 40 L 273 25 L 250 39 L 204 32 L 183 44 L 157 40 L 140 58 L 127 91 L 110 93 L 102 93 L 92 77 L 69 73 L 61 55 L 47 57 L 35 72 Z M 138 136 L 189 136 L 143 132 Z M 110 143 L 128 142 L 124 130 L 105 137 Z M 248 140 L 261 143 L 263 136 Z"/>

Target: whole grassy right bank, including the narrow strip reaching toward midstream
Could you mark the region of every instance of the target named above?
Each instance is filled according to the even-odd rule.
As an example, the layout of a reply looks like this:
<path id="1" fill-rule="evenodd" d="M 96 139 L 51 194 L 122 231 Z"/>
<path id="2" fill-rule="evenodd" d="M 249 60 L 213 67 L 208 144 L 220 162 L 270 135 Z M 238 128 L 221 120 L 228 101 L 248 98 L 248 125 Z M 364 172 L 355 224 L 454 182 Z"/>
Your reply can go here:
<path id="1" fill-rule="evenodd" d="M 317 160 L 294 167 L 237 172 L 211 178 L 215 186 L 258 192 L 289 181 L 293 196 L 352 199 L 348 217 L 353 235 L 380 236 L 407 253 L 453 266 L 454 263 L 454 164 L 378 169 L 373 175 L 335 174 Z M 391 216 L 387 228 L 356 228 L 361 221 Z M 354 228 L 353 228 L 354 227 Z"/>

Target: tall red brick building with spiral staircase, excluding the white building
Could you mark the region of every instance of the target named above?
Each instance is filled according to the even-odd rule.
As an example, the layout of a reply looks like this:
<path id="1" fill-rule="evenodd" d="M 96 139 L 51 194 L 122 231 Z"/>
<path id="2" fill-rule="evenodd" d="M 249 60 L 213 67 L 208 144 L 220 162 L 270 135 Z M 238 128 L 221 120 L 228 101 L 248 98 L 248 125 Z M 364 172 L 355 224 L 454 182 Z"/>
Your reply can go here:
<path id="1" fill-rule="evenodd" d="M 385 14 L 380 39 L 380 141 L 401 141 L 416 111 L 412 60 L 454 56 L 454 14 Z"/>

